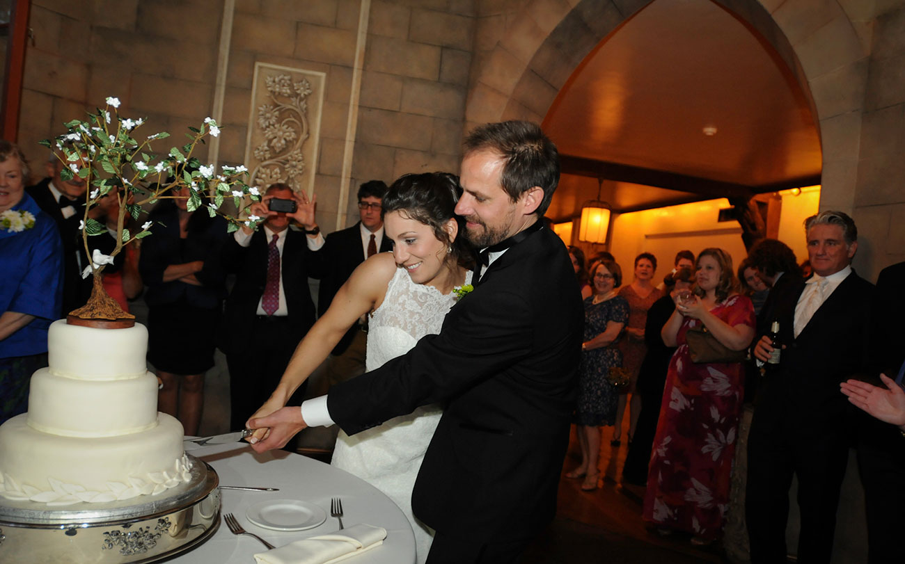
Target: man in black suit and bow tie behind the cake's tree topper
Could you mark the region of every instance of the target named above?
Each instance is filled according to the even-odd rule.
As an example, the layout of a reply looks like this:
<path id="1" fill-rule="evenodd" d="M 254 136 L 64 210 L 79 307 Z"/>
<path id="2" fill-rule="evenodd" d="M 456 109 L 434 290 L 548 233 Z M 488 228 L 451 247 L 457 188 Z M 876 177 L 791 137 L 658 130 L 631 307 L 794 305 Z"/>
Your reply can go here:
<path id="1" fill-rule="evenodd" d="M 79 225 L 85 214 L 85 181 L 73 175 L 63 180 L 64 164 L 55 156 L 47 163 L 48 177 L 25 190 L 45 213 L 56 221 L 63 252 L 61 316 L 85 305 L 91 293 L 90 278 L 83 279 L 81 270 L 88 266 L 82 250 Z"/>

